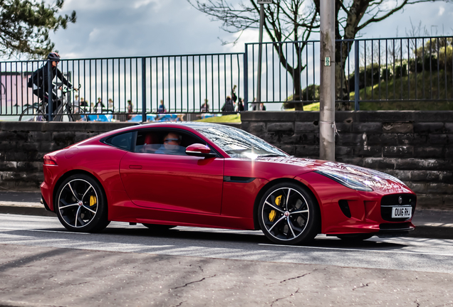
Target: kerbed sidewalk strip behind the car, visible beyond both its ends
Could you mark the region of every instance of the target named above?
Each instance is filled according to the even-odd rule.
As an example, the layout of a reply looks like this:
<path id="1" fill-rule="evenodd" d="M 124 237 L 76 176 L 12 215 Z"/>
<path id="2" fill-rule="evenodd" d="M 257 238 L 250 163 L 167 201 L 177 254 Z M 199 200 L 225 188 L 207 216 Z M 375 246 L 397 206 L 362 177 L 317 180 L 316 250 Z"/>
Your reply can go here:
<path id="1" fill-rule="evenodd" d="M 0 213 L 56 216 L 41 205 L 41 193 L 0 191 Z M 412 219 L 416 226 L 409 237 L 453 239 L 453 211 L 415 209 Z"/>

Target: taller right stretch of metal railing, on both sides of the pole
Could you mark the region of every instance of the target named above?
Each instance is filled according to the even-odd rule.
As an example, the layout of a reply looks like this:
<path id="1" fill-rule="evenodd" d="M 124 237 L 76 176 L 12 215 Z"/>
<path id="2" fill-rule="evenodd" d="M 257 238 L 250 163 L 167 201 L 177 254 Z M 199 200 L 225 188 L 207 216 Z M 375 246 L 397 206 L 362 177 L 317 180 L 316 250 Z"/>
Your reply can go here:
<path id="1" fill-rule="evenodd" d="M 360 102 L 453 101 L 452 42 L 452 36 L 336 41 L 345 52 L 335 61 L 335 102 L 358 110 Z M 246 44 L 249 98 L 256 97 L 258 45 Z M 261 102 L 319 102 L 320 53 L 319 41 L 263 43 Z"/>

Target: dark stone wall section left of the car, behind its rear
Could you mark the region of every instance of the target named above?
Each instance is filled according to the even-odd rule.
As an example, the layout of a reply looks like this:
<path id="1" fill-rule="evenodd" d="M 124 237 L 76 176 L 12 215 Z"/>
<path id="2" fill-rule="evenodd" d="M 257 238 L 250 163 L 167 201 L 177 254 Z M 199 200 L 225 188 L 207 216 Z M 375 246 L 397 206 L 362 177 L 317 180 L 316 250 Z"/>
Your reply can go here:
<path id="1" fill-rule="evenodd" d="M 0 122 L 0 190 L 37 191 L 43 156 L 130 123 Z"/>

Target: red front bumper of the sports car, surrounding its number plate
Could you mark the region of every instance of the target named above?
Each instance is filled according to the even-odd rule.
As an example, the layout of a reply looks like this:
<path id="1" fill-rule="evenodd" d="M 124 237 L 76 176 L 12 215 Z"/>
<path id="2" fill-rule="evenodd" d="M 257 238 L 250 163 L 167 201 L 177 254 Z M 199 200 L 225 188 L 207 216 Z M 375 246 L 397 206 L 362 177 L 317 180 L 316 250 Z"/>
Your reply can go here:
<path id="1" fill-rule="evenodd" d="M 417 196 L 404 185 L 391 190 L 358 191 L 317 173 L 300 179 L 316 195 L 321 210 L 321 233 L 326 235 L 375 234 L 400 236 L 415 229 L 412 217 Z M 400 203 L 401 197 L 401 203 Z M 391 217 L 393 207 L 412 207 L 410 217 Z"/>

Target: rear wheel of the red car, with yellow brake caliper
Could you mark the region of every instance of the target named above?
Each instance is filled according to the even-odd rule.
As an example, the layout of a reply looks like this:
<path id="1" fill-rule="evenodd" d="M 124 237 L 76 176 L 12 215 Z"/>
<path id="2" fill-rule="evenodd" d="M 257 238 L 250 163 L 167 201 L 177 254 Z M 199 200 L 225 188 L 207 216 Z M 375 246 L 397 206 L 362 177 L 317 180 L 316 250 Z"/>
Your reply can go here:
<path id="1" fill-rule="evenodd" d="M 75 174 L 58 187 L 55 212 L 67 230 L 99 232 L 110 223 L 107 210 L 102 186 L 88 175 Z"/>

